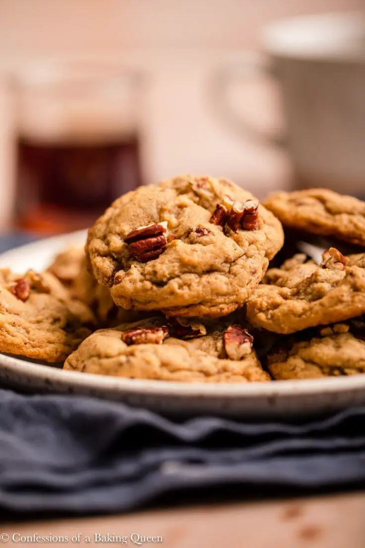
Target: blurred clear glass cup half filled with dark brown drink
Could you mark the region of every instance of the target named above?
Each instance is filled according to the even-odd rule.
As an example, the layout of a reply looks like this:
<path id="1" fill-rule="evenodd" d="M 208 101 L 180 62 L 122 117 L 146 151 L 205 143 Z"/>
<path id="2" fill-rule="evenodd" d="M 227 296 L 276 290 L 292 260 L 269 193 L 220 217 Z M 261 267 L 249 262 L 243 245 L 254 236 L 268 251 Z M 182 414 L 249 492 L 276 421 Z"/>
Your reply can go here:
<path id="1" fill-rule="evenodd" d="M 15 77 L 15 224 L 88 227 L 142 184 L 141 75 L 100 61 L 43 62 Z"/>

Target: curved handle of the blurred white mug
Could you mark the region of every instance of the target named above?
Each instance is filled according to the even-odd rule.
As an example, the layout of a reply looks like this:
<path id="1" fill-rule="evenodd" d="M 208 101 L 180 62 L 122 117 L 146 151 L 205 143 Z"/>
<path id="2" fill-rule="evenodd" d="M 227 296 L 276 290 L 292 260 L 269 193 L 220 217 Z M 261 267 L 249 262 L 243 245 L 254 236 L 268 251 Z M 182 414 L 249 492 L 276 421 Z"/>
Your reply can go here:
<path id="1" fill-rule="evenodd" d="M 227 101 L 227 92 L 229 84 L 232 81 L 238 79 L 247 80 L 262 76 L 276 79 L 273 63 L 270 62 L 267 57 L 254 52 L 247 52 L 244 55 L 241 54 L 239 59 L 231 61 L 228 65 L 222 66 L 218 69 L 218 72 L 216 72 L 215 85 L 213 88 L 215 89 L 215 103 L 216 106 L 218 105 L 225 120 L 236 132 L 242 133 L 243 130 L 246 135 L 261 146 L 267 145 L 269 142 L 271 145 L 282 148 L 287 144 L 285 134 L 263 134 L 259 129 L 254 128 L 249 122 L 242 118 L 242 116 L 238 118 L 237 113 L 229 106 L 229 102 Z"/>

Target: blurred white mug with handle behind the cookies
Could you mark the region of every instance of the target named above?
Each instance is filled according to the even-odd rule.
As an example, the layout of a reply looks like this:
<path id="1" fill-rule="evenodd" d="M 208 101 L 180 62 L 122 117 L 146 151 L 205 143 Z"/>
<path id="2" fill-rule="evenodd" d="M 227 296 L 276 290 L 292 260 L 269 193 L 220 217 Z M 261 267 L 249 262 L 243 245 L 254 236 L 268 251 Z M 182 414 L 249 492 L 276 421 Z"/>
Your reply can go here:
<path id="1" fill-rule="evenodd" d="M 296 186 L 365 197 L 365 14 L 310 15 L 267 27 L 265 56 L 246 54 L 219 73 L 221 108 L 253 138 L 263 135 L 229 109 L 232 79 L 277 78 Z M 264 140 L 268 140 L 267 136 Z"/>

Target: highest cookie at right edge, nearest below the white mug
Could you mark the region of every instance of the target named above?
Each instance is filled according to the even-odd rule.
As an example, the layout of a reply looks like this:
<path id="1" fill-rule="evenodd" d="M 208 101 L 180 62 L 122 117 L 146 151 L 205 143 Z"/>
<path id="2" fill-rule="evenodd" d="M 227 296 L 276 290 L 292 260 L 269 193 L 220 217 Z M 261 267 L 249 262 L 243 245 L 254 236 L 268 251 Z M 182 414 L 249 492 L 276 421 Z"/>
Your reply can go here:
<path id="1" fill-rule="evenodd" d="M 274 192 L 264 202 L 284 226 L 365 245 L 365 202 L 328 189 Z"/>

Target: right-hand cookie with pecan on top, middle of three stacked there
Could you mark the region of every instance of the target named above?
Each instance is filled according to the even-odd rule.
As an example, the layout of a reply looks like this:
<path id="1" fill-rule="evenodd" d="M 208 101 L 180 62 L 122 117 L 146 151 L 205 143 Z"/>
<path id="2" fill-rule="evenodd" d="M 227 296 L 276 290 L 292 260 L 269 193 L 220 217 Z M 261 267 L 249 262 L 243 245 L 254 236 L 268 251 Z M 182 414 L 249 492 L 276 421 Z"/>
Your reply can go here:
<path id="1" fill-rule="evenodd" d="M 365 312 L 365 254 L 351 265 L 338 250 L 323 254 L 322 265 L 309 261 L 266 279 L 247 302 L 247 319 L 276 333 L 341 322 Z M 277 271 L 277 269 L 275 269 Z"/>

